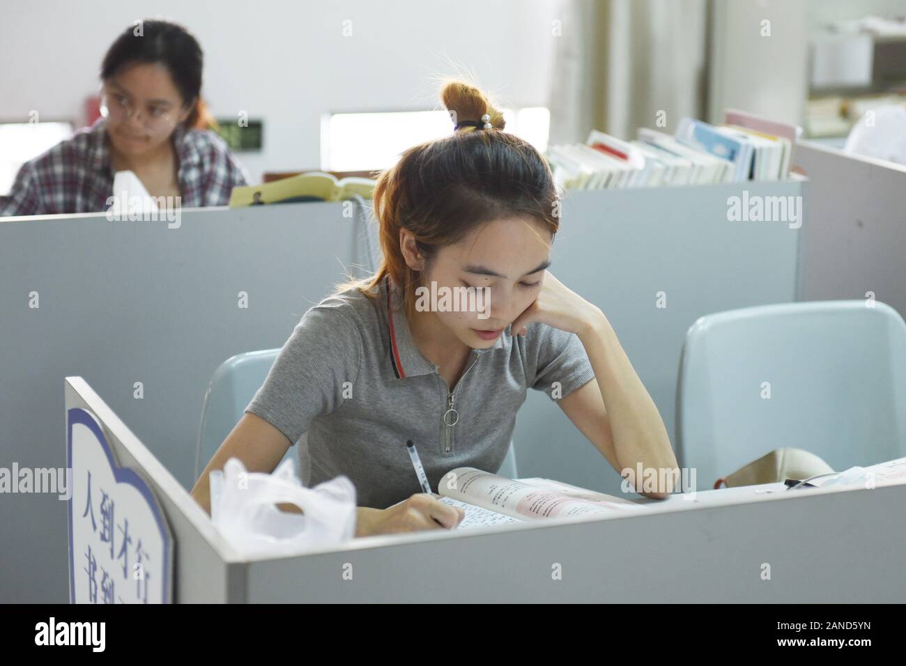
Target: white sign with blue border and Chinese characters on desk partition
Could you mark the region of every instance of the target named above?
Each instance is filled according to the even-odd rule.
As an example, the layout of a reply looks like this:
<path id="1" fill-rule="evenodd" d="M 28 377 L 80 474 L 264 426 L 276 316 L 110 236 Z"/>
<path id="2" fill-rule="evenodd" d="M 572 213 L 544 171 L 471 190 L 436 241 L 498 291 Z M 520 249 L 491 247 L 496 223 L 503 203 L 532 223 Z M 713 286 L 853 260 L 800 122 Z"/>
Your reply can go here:
<path id="1" fill-rule="evenodd" d="M 89 411 L 67 414 L 71 603 L 170 603 L 173 539 L 148 484 Z"/>

